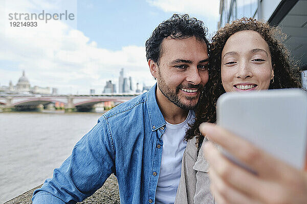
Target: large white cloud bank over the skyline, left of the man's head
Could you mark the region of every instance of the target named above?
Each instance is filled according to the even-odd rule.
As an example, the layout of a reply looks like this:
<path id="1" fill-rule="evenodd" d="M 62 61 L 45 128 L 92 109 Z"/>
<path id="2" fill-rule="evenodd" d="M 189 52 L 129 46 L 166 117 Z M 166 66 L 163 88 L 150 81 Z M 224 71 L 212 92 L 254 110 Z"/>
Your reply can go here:
<path id="1" fill-rule="evenodd" d="M 20 1 L 27 12 L 52 7 L 47 1 Z M 16 8 L 6 8 L 16 10 Z M 0 12 L 3 9 L 0 8 Z M 0 20 L 0 28 L 5 28 Z M 31 86 L 57 87 L 60 93 L 101 93 L 105 82 L 117 81 L 119 70 L 134 82 L 153 84 L 145 57 L 145 47 L 125 46 L 112 51 L 97 47 L 95 41 L 63 21 L 50 21 L 41 28 L 0 29 L 0 63 L 17 64 L 16 69 L 0 67 L 0 83 L 17 83 L 22 70 Z M 17 76 L 16 76 L 17 74 Z"/>

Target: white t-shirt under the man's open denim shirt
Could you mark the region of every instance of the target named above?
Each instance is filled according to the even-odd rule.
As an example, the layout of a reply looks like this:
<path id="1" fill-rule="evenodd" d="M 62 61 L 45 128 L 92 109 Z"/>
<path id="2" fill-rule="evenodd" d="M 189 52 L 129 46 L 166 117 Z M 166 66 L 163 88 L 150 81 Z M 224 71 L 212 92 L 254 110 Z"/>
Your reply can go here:
<path id="1" fill-rule="evenodd" d="M 188 123 L 194 122 L 194 111 L 189 111 L 185 121 L 171 124 L 166 121 L 166 129 L 162 135 L 163 150 L 158 186 L 156 190 L 156 203 L 174 203 L 181 176 L 181 161 L 187 142 L 184 141 Z"/>

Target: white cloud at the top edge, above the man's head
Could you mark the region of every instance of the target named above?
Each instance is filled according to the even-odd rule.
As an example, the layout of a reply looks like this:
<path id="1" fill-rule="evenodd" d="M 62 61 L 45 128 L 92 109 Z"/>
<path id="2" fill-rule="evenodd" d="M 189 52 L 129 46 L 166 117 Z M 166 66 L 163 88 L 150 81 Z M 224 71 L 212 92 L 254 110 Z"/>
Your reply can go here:
<path id="1" fill-rule="evenodd" d="M 220 1 L 210 0 L 147 0 L 151 6 L 165 12 L 189 13 L 199 16 L 218 17 Z"/>

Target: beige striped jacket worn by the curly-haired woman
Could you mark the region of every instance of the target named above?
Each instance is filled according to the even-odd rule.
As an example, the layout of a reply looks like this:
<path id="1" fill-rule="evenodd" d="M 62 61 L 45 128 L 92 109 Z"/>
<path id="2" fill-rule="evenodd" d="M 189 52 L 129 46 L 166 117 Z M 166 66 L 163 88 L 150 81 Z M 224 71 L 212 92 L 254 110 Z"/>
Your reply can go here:
<path id="1" fill-rule="evenodd" d="M 206 138 L 203 142 L 206 142 Z M 216 204 L 210 192 L 209 163 L 203 148 L 197 152 L 196 138 L 188 140 L 181 166 L 181 178 L 174 203 Z"/>

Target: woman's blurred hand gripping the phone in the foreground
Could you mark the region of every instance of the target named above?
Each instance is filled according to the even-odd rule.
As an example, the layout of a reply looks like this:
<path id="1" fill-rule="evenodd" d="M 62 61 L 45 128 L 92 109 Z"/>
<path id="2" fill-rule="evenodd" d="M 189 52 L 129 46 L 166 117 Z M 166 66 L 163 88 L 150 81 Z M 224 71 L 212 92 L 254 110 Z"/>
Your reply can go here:
<path id="1" fill-rule="evenodd" d="M 257 172 L 256 175 L 235 165 L 211 143 L 203 145 L 210 163 L 212 193 L 219 204 L 307 203 L 307 172 L 281 162 L 217 125 L 203 123 L 200 131 Z"/>

